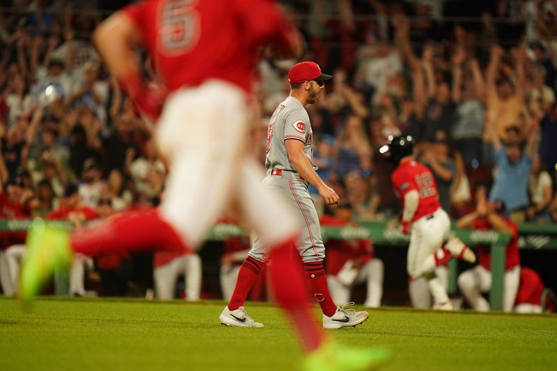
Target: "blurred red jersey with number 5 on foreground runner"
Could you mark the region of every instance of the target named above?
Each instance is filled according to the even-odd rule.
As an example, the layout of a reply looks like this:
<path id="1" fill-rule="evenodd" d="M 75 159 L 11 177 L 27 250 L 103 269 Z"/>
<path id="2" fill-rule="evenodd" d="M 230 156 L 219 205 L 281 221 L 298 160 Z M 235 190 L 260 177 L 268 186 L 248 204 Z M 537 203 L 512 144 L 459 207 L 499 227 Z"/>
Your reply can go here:
<path id="1" fill-rule="evenodd" d="M 250 92 L 259 47 L 290 47 L 292 25 L 271 0 L 152 0 L 123 10 L 170 91 L 221 79 Z"/>

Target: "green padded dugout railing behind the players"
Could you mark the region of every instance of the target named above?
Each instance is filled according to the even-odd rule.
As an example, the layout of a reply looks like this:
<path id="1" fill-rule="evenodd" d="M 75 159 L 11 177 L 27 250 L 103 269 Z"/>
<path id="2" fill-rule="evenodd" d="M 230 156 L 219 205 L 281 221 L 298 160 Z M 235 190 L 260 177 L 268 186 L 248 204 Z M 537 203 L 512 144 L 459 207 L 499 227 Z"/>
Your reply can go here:
<path id="1" fill-rule="evenodd" d="M 68 221 L 53 221 L 61 228 L 72 228 Z M 0 232 L 24 232 L 31 225 L 28 219 L 0 219 Z M 396 223 L 386 221 L 360 221 L 359 227 L 322 227 L 324 239 L 371 239 L 374 244 L 388 246 L 408 246 L 409 237 L 400 232 Z M 557 250 L 557 225 L 542 226 L 523 224 L 519 228 L 519 247 L 524 249 Z M 457 230 L 453 233 L 468 246 L 478 244 L 492 248 L 492 289 L 489 301 L 493 310 L 503 309 L 503 275 L 505 273 L 505 246 L 510 237 L 494 230 Z M 217 224 L 210 231 L 208 239 L 222 241 L 226 237 L 245 236 L 249 231 L 232 224 Z M 456 290 L 457 262 L 449 263 L 449 292 Z M 62 279 L 60 281 L 63 281 Z M 57 285 L 58 286 L 58 285 Z M 63 290 L 56 290 L 63 292 Z"/>

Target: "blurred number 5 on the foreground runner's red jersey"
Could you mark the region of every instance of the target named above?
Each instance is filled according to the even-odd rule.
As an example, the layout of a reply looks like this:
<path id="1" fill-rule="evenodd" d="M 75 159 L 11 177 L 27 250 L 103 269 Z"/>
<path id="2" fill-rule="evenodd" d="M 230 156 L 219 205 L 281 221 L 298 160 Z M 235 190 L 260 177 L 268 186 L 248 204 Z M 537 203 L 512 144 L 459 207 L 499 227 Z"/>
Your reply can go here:
<path id="1" fill-rule="evenodd" d="M 195 6 L 199 0 L 171 0 L 161 13 L 159 40 L 165 54 L 183 54 L 194 47 L 199 39 L 199 13 Z"/>

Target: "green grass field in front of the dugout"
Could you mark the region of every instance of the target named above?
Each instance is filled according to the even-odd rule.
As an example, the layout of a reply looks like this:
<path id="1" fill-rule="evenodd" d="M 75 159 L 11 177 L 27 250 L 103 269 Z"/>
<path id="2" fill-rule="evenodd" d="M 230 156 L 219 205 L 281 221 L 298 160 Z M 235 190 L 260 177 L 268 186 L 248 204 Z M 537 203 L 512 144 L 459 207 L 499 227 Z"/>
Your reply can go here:
<path id="1" fill-rule="evenodd" d="M 219 324 L 224 303 L 0 299 L 0 370 L 298 370 L 301 351 L 274 306 L 248 303 L 264 329 Z M 370 311 L 338 341 L 383 346 L 384 370 L 554 370 L 556 315 Z M 316 312 L 317 316 L 317 312 Z"/>

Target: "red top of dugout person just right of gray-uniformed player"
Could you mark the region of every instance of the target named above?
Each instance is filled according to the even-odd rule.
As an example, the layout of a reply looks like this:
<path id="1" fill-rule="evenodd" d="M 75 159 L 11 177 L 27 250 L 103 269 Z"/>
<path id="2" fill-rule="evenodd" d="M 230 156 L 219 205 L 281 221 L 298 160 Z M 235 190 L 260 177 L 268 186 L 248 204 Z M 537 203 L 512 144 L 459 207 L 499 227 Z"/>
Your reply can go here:
<path id="1" fill-rule="evenodd" d="M 324 215 L 320 219 L 322 226 L 343 227 L 348 223 L 340 221 L 333 216 Z M 349 260 L 359 260 L 363 264 L 373 259 L 373 245 L 369 239 L 328 239 L 327 260 L 325 271 L 327 274 L 336 275 Z"/>

